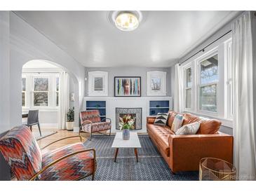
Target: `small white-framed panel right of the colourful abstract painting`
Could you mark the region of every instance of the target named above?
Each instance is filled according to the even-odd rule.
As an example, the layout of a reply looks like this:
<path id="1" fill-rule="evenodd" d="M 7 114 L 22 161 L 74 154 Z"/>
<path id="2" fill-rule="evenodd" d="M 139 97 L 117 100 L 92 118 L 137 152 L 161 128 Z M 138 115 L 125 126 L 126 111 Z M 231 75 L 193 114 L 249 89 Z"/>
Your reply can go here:
<path id="1" fill-rule="evenodd" d="M 166 71 L 147 72 L 147 95 L 166 96 Z"/>

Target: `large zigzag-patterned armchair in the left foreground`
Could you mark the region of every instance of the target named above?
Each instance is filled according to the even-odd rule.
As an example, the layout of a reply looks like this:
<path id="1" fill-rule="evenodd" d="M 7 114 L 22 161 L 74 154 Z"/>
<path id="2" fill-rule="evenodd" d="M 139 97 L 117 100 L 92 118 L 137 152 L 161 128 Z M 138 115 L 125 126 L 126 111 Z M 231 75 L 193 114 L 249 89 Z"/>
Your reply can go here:
<path id="1" fill-rule="evenodd" d="M 72 137 L 80 137 L 81 141 L 81 136 Z M 55 142 L 67 138 L 71 137 Z M 25 125 L 11 129 L 0 139 L 0 151 L 18 180 L 70 181 L 89 176 L 94 179 L 94 149 L 85 149 L 79 142 L 42 153 L 32 132 Z"/>

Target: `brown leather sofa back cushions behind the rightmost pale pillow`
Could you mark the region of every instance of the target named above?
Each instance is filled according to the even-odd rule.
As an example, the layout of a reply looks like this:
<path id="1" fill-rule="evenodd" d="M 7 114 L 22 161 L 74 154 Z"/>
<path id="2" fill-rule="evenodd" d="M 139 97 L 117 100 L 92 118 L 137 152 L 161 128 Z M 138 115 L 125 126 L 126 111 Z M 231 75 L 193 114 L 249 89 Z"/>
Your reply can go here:
<path id="1" fill-rule="evenodd" d="M 220 129 L 220 125 L 222 124 L 216 119 L 199 118 L 198 116 L 194 116 L 192 114 L 184 114 L 183 117 L 184 121 L 182 125 L 187 125 L 198 121 L 201 122 L 199 130 L 196 134 L 214 134 Z"/>

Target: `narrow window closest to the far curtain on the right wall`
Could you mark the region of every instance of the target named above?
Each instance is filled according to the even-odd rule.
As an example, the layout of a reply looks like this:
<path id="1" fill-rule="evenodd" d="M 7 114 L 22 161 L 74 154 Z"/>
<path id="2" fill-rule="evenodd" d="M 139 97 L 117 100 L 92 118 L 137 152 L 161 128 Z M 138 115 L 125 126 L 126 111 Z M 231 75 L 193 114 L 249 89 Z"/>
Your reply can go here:
<path id="1" fill-rule="evenodd" d="M 185 108 L 191 108 L 192 69 L 185 69 Z"/>

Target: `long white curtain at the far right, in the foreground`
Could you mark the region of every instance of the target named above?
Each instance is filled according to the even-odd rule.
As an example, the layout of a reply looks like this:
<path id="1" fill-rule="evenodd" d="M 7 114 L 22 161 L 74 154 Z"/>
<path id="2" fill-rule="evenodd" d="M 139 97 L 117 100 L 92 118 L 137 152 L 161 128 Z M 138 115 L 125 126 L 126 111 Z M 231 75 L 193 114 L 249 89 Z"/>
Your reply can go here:
<path id="1" fill-rule="evenodd" d="M 256 179 L 255 109 L 251 13 L 232 24 L 232 61 L 234 76 L 234 164 L 238 179 Z"/>

